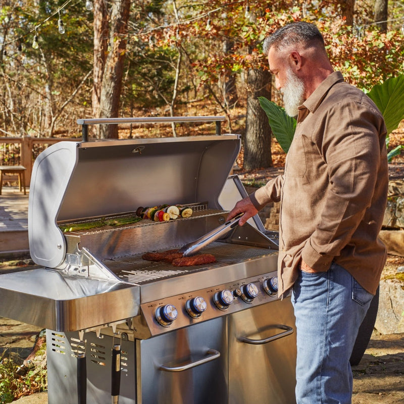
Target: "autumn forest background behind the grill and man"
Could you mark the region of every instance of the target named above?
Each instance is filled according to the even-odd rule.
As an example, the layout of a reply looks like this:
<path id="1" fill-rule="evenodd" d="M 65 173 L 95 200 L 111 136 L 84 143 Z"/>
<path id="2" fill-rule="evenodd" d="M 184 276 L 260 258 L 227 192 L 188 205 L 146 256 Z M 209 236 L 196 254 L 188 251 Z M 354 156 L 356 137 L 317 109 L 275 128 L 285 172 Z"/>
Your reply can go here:
<path id="1" fill-rule="evenodd" d="M 224 115 L 223 131 L 242 135 L 237 163 L 244 170 L 267 168 L 281 165 L 284 155 L 274 156 L 277 145 L 258 97 L 282 105 L 282 96 L 262 41 L 281 25 L 316 23 L 335 70 L 361 89 L 404 73 L 403 0 L 0 4 L 0 136 L 79 137 L 78 118 Z M 94 125 L 91 137 L 213 130 L 207 124 Z"/>

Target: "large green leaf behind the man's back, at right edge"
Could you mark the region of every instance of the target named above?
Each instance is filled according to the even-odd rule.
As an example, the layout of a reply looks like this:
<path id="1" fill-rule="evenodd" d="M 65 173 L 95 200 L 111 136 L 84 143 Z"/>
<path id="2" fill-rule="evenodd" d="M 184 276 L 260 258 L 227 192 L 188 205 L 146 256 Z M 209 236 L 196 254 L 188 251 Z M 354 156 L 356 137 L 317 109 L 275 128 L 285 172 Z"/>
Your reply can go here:
<path id="1" fill-rule="evenodd" d="M 404 119 L 404 75 L 376 84 L 368 95 L 383 114 L 389 135 Z"/>

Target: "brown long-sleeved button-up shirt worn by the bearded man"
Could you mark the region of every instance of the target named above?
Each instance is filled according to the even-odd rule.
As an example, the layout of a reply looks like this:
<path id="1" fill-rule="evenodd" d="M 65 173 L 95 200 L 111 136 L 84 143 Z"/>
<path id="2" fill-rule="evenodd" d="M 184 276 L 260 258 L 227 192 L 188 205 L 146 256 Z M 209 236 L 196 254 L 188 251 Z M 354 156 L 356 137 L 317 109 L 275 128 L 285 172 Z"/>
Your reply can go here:
<path id="1" fill-rule="evenodd" d="M 284 174 L 250 195 L 260 209 L 281 201 L 279 295 L 301 259 L 315 271 L 334 261 L 375 293 L 386 261 L 378 239 L 388 187 L 383 116 L 361 90 L 329 75 L 299 107 Z"/>

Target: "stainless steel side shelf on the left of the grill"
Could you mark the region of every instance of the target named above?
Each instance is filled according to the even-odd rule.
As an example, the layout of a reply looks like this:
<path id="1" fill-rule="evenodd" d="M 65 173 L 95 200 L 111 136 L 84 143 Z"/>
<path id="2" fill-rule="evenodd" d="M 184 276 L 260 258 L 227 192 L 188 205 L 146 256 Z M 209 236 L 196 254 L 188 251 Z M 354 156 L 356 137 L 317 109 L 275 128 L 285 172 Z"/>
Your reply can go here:
<path id="1" fill-rule="evenodd" d="M 57 331 L 83 330 L 139 313 L 139 287 L 51 269 L 0 275 L 0 315 Z"/>

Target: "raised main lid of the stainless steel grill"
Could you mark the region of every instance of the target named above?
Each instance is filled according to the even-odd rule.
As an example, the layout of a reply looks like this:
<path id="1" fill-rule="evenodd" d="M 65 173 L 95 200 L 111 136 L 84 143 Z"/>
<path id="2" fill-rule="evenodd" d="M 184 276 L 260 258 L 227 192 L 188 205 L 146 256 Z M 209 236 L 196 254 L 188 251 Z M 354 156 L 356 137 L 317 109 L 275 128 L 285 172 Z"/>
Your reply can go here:
<path id="1" fill-rule="evenodd" d="M 66 240 L 58 221 L 76 221 L 139 206 L 218 203 L 240 149 L 240 135 L 62 141 L 35 160 L 29 194 L 32 260 L 60 266 Z"/>

